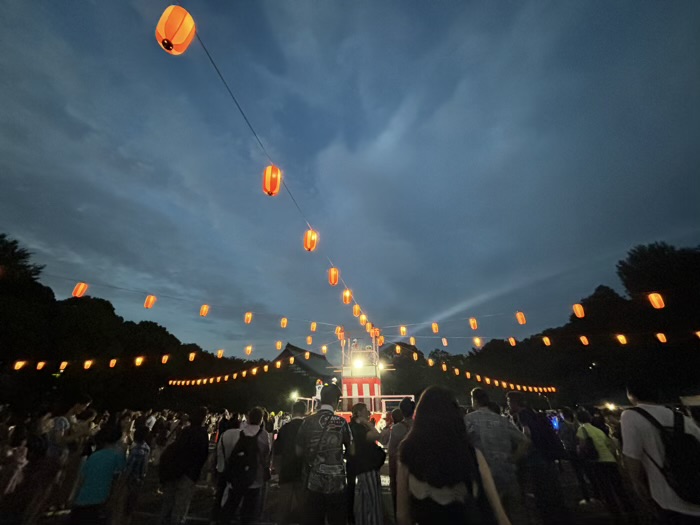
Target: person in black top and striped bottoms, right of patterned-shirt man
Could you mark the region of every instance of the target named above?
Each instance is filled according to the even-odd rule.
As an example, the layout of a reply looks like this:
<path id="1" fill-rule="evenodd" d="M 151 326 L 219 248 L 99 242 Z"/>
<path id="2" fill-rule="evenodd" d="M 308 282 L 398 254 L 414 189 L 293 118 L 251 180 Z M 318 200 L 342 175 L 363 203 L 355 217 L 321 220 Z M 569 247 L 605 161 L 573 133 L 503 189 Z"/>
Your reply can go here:
<path id="1" fill-rule="evenodd" d="M 348 514 L 356 525 L 381 525 L 384 522 L 379 469 L 384 465 L 386 453 L 376 444 L 379 432 L 370 423 L 370 415 L 364 403 L 352 407 L 350 431 L 355 454 L 347 461 Z"/>

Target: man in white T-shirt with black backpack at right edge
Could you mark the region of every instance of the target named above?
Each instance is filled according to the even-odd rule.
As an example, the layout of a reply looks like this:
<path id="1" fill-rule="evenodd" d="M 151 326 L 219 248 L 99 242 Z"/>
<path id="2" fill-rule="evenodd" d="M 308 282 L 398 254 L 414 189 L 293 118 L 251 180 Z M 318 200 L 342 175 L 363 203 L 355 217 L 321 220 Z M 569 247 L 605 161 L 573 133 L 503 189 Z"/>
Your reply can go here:
<path id="1" fill-rule="evenodd" d="M 627 382 L 622 454 L 635 489 L 662 524 L 700 524 L 700 428 L 659 402 L 652 375 Z"/>

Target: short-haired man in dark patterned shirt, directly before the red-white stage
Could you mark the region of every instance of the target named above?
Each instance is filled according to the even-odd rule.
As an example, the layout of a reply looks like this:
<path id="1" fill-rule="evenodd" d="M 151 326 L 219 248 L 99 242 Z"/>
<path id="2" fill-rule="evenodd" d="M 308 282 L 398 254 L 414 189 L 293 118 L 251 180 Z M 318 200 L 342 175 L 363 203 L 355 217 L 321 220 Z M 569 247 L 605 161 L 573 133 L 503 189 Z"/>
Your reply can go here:
<path id="1" fill-rule="evenodd" d="M 296 451 L 302 457 L 302 484 L 306 491 L 304 525 L 345 525 L 348 518 L 343 453 L 354 453 L 347 421 L 335 414 L 340 400 L 336 385 L 320 392 L 321 406 L 308 416 L 297 434 Z"/>

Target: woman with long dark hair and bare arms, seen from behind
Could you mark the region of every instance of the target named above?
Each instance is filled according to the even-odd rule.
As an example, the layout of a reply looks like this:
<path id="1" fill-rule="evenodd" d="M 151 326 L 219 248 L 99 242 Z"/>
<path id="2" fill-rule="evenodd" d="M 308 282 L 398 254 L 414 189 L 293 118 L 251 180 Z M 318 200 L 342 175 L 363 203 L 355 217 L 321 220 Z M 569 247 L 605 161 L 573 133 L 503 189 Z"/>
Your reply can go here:
<path id="1" fill-rule="evenodd" d="M 491 471 L 467 430 L 454 394 L 431 386 L 399 447 L 397 523 L 510 525 Z"/>

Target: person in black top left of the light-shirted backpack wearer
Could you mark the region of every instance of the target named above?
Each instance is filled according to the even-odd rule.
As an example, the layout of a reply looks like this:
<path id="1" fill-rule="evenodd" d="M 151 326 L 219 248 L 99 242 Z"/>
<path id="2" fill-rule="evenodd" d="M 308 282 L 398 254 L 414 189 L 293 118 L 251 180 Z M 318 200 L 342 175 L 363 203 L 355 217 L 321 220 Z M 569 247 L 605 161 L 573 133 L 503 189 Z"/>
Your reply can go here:
<path id="1" fill-rule="evenodd" d="M 189 426 L 160 458 L 160 476 L 163 482 L 163 506 L 160 525 L 180 525 L 187 516 L 195 484 L 209 455 L 209 436 L 202 426 L 207 409 L 195 409 Z"/>

